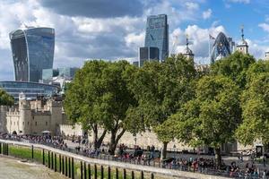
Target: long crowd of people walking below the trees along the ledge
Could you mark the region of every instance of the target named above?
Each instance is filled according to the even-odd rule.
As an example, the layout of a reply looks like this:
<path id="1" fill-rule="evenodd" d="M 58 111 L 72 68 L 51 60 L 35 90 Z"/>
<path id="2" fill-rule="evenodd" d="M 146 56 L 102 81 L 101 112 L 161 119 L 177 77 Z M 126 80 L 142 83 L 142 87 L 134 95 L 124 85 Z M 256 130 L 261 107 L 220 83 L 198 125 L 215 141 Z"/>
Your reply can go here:
<path id="1" fill-rule="evenodd" d="M 67 146 L 67 139 L 63 136 L 50 136 L 49 134 L 38 136 L 0 133 L 0 139 L 45 144 L 57 149 L 74 151 L 77 154 L 81 154 L 89 158 L 99 158 L 102 156 L 104 159 L 109 159 L 110 157 L 110 159 L 127 161 L 134 164 L 149 166 L 159 165 L 170 169 L 200 172 L 204 174 L 214 174 L 219 172 L 223 175 L 230 175 L 230 177 L 258 178 L 263 175 L 264 178 L 269 178 L 269 171 L 259 171 L 254 164 L 254 161 L 247 163 L 246 166 L 242 166 L 243 160 L 241 159 L 239 160 L 241 165 L 237 165 L 236 162 L 231 162 L 230 165 L 226 165 L 222 160 L 221 166 L 219 167 L 216 166 L 213 158 L 201 158 L 201 156 L 200 158 L 176 158 L 174 156 L 174 158 L 166 158 L 160 162 L 161 152 L 159 150 L 155 150 L 153 145 L 148 146 L 147 149 L 142 149 L 137 145 L 134 145 L 134 148 L 129 148 L 125 144 L 121 143 L 117 145 L 115 155 L 109 155 L 109 144 L 102 144 L 99 149 L 94 149 L 93 146 L 91 146 L 91 142 L 81 138 L 76 140 L 72 138 L 72 140 L 69 141 L 78 143 L 77 145 L 74 145 L 76 146 L 74 149 Z"/>

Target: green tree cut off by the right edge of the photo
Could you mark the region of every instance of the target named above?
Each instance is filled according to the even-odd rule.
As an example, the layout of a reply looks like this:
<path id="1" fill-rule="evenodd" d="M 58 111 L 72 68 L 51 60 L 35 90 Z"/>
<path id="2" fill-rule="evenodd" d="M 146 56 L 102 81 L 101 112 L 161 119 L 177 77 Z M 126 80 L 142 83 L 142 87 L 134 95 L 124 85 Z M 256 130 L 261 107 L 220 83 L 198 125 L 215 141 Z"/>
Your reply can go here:
<path id="1" fill-rule="evenodd" d="M 256 74 L 251 79 L 242 95 L 243 123 L 236 132 L 245 145 L 256 140 L 269 142 L 269 72 Z"/>

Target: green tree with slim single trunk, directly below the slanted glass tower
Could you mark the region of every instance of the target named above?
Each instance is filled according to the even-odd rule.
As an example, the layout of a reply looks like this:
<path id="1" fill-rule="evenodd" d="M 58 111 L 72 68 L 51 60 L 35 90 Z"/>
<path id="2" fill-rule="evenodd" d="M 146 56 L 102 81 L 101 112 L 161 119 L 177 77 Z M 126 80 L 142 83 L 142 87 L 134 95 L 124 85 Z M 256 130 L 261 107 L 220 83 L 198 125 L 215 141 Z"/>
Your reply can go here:
<path id="1" fill-rule="evenodd" d="M 174 55 L 164 63 L 145 63 L 143 68 L 132 74 L 129 88 L 134 92 L 138 107 L 130 113 L 130 117 L 138 118 L 139 124 L 142 124 L 139 126 L 144 126 L 140 130 L 150 129 L 157 134 L 163 143 L 161 157 L 166 158 L 167 145 L 174 137 L 172 126 L 165 122 L 182 104 L 194 97 L 194 64 L 183 55 Z"/>

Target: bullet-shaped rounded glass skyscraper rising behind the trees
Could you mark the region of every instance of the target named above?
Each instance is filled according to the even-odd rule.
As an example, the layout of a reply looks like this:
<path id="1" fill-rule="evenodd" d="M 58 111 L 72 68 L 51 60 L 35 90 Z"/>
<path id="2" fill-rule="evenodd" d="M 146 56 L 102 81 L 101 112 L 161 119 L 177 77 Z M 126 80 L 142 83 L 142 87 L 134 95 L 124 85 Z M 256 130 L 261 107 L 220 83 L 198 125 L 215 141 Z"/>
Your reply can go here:
<path id="1" fill-rule="evenodd" d="M 220 60 L 231 54 L 230 40 L 225 36 L 224 33 L 220 32 L 213 44 L 211 52 L 211 63 L 213 64 L 216 60 Z"/>

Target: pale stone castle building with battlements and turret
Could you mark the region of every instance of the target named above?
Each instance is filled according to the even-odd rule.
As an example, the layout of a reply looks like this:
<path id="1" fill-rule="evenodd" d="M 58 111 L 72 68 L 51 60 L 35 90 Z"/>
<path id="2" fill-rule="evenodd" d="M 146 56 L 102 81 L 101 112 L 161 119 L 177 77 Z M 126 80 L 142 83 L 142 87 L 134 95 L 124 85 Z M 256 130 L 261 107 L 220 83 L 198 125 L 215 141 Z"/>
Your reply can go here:
<path id="1" fill-rule="evenodd" d="M 20 94 L 19 106 L 11 107 L 6 113 L 6 130 L 16 134 L 37 134 L 44 131 L 59 134 L 60 124 L 67 124 L 62 101 L 53 99 L 27 100 Z"/>

